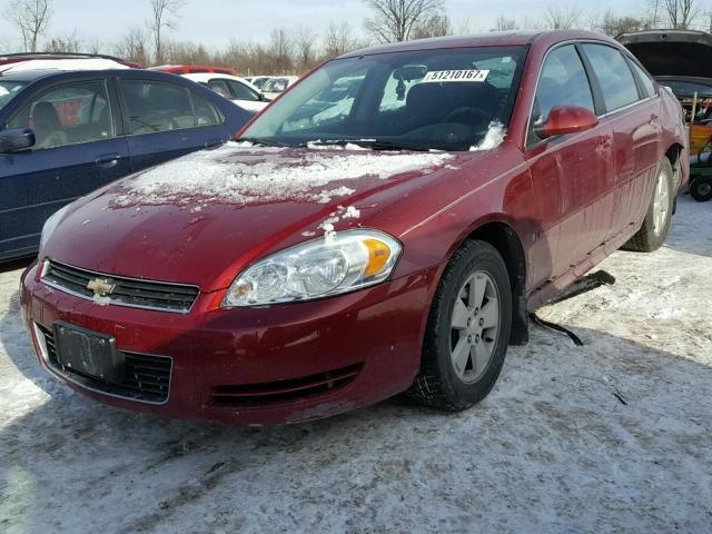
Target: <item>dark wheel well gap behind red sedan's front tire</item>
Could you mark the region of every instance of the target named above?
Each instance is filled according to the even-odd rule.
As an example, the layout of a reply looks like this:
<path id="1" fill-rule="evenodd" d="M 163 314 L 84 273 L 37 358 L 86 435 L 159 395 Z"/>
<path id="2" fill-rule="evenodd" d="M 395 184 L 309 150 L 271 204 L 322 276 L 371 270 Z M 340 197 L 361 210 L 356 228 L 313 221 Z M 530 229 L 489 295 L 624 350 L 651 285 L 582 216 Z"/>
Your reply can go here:
<path id="1" fill-rule="evenodd" d="M 504 222 L 488 222 L 474 230 L 468 239 L 486 241 L 497 249 L 507 267 L 512 285 L 511 345 L 526 345 L 530 338 L 526 310 L 526 257 L 516 233 Z"/>

